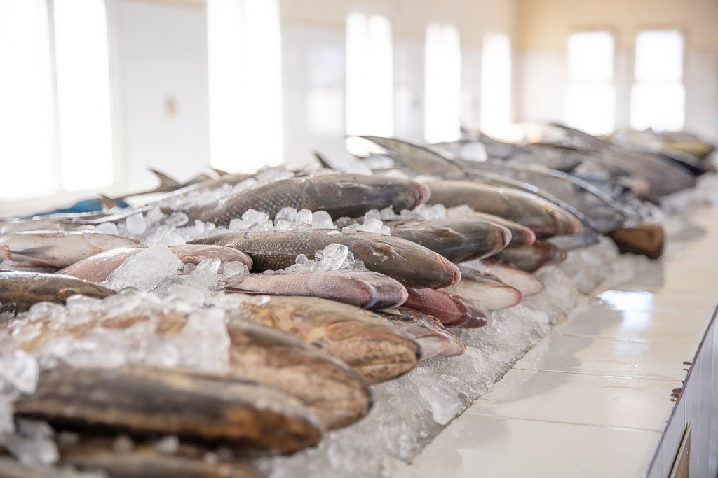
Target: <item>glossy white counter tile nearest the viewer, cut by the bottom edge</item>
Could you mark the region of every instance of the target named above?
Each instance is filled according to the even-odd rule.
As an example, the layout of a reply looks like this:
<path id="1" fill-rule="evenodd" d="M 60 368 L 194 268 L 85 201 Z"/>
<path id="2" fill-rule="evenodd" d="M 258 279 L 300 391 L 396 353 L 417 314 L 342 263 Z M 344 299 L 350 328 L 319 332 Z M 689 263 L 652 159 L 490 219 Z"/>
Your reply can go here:
<path id="1" fill-rule="evenodd" d="M 661 434 L 464 414 L 416 458 L 414 478 L 640 477 Z"/>

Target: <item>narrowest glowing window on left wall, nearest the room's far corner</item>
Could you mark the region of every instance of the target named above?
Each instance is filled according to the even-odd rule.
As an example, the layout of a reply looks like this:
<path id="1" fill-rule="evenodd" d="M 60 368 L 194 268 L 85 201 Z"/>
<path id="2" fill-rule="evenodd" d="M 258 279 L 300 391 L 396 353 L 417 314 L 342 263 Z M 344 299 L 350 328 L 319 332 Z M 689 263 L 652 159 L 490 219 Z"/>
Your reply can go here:
<path id="1" fill-rule="evenodd" d="M 511 123 L 511 44 L 506 34 L 485 34 L 481 54 L 481 129 L 501 135 Z"/>

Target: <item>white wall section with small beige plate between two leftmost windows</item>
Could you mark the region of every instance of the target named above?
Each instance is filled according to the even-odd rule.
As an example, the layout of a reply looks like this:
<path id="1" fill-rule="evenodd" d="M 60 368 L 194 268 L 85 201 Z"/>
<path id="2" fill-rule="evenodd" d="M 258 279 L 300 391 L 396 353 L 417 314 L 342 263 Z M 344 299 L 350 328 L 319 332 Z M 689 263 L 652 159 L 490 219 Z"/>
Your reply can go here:
<path id="1" fill-rule="evenodd" d="M 126 186 L 136 191 L 157 185 L 148 167 L 185 180 L 209 165 L 205 10 L 115 1 L 118 149 Z M 176 113 L 169 112 L 169 102 Z"/>

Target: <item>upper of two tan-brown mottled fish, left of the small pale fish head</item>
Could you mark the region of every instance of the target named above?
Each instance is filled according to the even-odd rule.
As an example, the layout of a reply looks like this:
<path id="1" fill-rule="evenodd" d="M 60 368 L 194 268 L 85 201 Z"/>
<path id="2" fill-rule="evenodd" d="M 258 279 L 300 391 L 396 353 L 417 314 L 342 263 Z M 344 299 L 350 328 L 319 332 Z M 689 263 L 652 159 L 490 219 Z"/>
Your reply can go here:
<path id="1" fill-rule="evenodd" d="M 332 300 L 258 296 L 228 312 L 297 335 L 347 363 L 370 384 L 403 375 L 421 358 L 419 344 L 381 315 Z"/>

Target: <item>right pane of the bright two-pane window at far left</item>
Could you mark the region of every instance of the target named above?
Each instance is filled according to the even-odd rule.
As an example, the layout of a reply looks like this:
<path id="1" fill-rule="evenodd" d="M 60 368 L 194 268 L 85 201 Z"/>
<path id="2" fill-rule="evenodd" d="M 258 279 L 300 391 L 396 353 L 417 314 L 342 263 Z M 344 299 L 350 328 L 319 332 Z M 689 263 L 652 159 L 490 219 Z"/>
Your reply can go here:
<path id="1" fill-rule="evenodd" d="M 55 0 L 57 111 L 62 187 L 112 184 L 112 126 L 104 0 Z"/>

